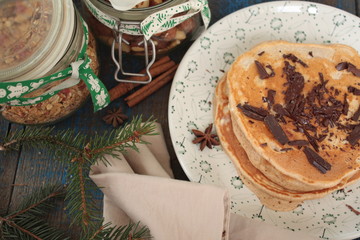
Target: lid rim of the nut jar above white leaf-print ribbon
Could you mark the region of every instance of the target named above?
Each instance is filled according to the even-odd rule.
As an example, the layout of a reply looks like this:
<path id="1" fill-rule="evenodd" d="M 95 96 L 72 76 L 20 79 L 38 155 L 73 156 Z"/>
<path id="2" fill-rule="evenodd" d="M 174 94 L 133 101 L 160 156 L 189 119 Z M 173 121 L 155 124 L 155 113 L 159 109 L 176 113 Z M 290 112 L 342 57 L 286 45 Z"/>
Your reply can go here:
<path id="1" fill-rule="evenodd" d="M 161 4 L 146 8 L 133 8 L 127 11 L 116 10 L 109 1 L 106 0 L 90 0 L 102 12 L 121 20 L 128 21 L 142 21 L 149 15 L 156 13 L 162 9 L 173 7 L 175 5 L 184 3 L 188 0 L 166 0 Z"/>

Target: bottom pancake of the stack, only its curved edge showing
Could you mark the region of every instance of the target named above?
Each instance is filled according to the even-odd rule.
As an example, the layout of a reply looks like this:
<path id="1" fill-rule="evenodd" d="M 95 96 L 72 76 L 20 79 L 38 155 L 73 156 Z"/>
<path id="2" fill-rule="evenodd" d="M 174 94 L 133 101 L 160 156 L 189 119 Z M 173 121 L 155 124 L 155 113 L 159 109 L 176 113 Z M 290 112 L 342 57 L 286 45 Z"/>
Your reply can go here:
<path id="1" fill-rule="evenodd" d="M 223 149 L 233 161 L 244 184 L 256 194 L 266 207 L 278 211 L 290 211 L 304 200 L 321 198 L 356 181 L 360 177 L 360 174 L 357 174 L 352 179 L 349 179 L 349 181 L 343 181 L 334 188 L 310 192 L 290 191 L 277 185 L 251 164 L 244 148 L 235 136 L 228 108 L 226 75 L 216 87 L 213 103 L 214 124 Z M 246 146 L 246 148 L 248 147 Z"/>

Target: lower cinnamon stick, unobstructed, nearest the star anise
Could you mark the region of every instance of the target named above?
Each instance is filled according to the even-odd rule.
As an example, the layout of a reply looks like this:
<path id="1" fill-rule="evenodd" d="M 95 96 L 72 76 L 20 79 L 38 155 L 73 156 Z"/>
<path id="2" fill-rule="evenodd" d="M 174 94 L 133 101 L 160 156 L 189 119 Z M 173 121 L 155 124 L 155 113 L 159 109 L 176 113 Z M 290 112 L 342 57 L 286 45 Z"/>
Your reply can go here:
<path id="1" fill-rule="evenodd" d="M 125 101 L 127 102 L 127 105 L 129 107 L 133 107 L 136 104 L 143 101 L 145 98 L 156 92 L 158 89 L 163 87 L 166 83 L 170 82 L 175 75 L 176 69 L 178 67 L 178 64 L 171 67 L 166 72 L 162 73 L 160 76 L 155 78 L 151 83 L 145 85 L 144 87 L 140 88 L 127 98 L 125 98 Z"/>

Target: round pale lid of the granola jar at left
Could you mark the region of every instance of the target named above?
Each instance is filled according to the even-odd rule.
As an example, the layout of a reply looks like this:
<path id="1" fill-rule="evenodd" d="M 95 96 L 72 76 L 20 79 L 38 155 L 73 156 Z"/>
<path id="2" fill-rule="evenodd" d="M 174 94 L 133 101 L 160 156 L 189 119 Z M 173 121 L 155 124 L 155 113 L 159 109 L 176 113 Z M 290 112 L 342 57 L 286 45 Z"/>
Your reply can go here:
<path id="1" fill-rule="evenodd" d="M 0 1 L 0 81 L 42 77 L 70 42 L 72 32 L 64 36 L 62 31 L 72 31 L 71 22 L 74 25 L 71 0 Z"/>

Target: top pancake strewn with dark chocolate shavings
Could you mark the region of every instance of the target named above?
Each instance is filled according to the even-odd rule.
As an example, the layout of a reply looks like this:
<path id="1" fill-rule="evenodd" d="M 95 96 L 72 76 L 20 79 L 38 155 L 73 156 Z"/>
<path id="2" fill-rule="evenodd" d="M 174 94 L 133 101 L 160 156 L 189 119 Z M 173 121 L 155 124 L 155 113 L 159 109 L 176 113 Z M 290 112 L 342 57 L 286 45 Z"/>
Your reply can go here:
<path id="1" fill-rule="evenodd" d="M 263 76 L 255 61 L 263 66 Z M 245 151 L 254 167 L 285 189 L 333 189 L 359 172 L 359 144 L 351 145 L 348 136 L 359 124 L 359 120 L 351 118 L 359 109 L 360 98 L 350 90 L 359 88 L 360 78 L 349 68 L 338 70 L 339 63 L 357 69 L 360 57 L 353 48 L 341 44 L 273 41 L 239 56 L 228 72 L 229 111 L 235 136 L 240 144 L 251 146 Z M 299 87 L 301 84 L 303 87 Z M 269 90 L 276 91 L 270 108 L 266 99 Z M 318 94 L 321 91 L 323 94 Z M 347 112 L 338 116 L 345 109 L 345 99 Z M 331 169 L 319 169 L 310 163 L 312 159 L 306 156 L 305 147 L 280 143 L 264 121 L 249 118 L 239 105 L 263 108 L 270 115 L 277 115 L 288 140 L 306 141 L 306 148 L 317 152 Z M 275 105 L 295 117 L 280 115 L 274 110 Z M 332 111 L 330 119 L 327 110 Z"/>

